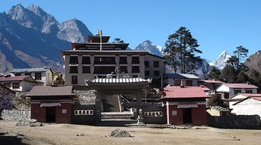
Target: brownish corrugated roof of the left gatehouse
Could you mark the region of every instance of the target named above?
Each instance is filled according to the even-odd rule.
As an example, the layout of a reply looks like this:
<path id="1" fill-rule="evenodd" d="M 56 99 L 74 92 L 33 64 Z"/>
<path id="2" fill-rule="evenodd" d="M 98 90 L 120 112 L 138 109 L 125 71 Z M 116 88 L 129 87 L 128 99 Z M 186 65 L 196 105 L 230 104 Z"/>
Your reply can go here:
<path id="1" fill-rule="evenodd" d="M 34 86 L 28 96 L 68 96 L 72 93 L 73 86 Z"/>

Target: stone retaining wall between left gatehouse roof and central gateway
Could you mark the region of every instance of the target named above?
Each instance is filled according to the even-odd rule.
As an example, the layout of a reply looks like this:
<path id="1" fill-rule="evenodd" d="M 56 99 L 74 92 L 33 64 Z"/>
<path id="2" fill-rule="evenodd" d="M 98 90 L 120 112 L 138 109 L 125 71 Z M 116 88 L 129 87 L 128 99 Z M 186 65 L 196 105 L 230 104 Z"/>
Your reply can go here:
<path id="1" fill-rule="evenodd" d="M 73 93 L 78 96 L 74 99 L 75 104 L 81 105 L 93 105 L 95 104 L 95 94 L 94 90 L 74 90 Z"/>

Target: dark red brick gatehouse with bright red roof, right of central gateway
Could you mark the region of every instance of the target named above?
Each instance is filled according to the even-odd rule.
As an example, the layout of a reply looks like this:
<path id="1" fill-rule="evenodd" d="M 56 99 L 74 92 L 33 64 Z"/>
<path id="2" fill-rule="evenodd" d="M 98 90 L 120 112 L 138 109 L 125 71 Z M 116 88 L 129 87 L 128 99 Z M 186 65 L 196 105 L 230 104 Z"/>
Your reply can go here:
<path id="1" fill-rule="evenodd" d="M 172 125 L 207 125 L 206 95 L 202 87 L 173 86 L 163 90 L 163 106 L 166 106 L 167 123 Z"/>

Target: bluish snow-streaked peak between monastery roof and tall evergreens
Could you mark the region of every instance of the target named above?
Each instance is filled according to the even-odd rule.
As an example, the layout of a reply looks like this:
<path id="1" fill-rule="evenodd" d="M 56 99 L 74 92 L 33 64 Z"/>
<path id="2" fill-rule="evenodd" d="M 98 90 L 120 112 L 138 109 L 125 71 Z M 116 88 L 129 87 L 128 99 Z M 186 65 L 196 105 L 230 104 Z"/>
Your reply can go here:
<path id="1" fill-rule="evenodd" d="M 160 46 L 158 46 L 158 47 L 160 47 Z M 135 47 L 134 50 L 148 51 L 150 54 L 163 57 L 163 55 L 158 47 L 153 42 L 146 40 L 146 41 L 142 42 L 141 44 L 139 44 L 137 47 Z M 163 50 L 162 47 L 161 47 L 161 50 Z"/>

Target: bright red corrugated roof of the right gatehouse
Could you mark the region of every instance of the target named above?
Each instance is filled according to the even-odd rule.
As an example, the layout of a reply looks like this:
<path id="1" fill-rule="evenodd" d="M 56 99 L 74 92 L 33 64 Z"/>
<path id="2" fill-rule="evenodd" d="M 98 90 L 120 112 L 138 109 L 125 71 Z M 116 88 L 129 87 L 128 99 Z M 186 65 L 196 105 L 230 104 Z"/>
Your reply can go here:
<path id="1" fill-rule="evenodd" d="M 164 88 L 166 96 L 162 98 L 197 98 L 197 97 L 211 97 L 206 95 L 202 87 L 166 87 Z"/>

